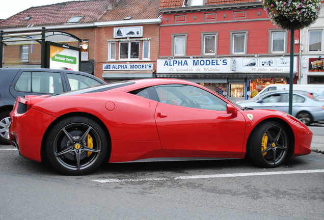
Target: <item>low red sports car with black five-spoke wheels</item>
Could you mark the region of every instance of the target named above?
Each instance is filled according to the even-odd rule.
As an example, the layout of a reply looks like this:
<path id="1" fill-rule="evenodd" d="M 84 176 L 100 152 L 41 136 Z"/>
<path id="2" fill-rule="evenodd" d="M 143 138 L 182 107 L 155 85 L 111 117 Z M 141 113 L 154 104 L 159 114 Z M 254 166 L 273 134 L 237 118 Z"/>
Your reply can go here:
<path id="1" fill-rule="evenodd" d="M 67 175 L 88 174 L 103 161 L 248 157 L 274 168 L 287 156 L 309 154 L 313 135 L 283 112 L 241 108 L 179 79 L 18 97 L 10 116 L 11 144 L 20 154 Z"/>

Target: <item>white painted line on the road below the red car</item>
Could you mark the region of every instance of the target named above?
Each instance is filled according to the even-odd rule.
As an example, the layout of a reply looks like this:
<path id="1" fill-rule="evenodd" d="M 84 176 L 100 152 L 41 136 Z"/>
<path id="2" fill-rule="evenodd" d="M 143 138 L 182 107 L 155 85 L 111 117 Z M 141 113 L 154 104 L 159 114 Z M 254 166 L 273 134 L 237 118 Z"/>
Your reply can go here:
<path id="1" fill-rule="evenodd" d="M 297 171 L 273 171 L 273 172 L 257 172 L 257 173 L 233 173 L 233 174 L 213 174 L 213 175 L 194 175 L 194 176 L 178 176 L 171 178 L 140 178 L 140 179 L 93 179 L 92 181 L 100 183 L 111 182 L 139 182 L 139 181 L 163 181 L 163 180 L 179 180 L 179 179 L 206 179 L 206 178 L 224 178 L 224 177 L 244 177 L 244 176 L 265 176 L 265 175 L 282 175 L 282 174 L 304 174 L 304 173 L 324 173 L 323 170 L 297 170 Z"/>

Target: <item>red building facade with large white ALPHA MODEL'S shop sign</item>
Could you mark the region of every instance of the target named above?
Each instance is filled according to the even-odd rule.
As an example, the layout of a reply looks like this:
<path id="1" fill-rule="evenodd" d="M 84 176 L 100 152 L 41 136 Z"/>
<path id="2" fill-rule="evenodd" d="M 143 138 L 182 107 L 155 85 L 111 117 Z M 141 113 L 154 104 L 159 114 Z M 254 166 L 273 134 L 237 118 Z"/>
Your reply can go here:
<path id="1" fill-rule="evenodd" d="M 156 77 L 195 81 L 232 100 L 298 79 L 300 32 L 276 28 L 260 1 L 162 0 Z"/>

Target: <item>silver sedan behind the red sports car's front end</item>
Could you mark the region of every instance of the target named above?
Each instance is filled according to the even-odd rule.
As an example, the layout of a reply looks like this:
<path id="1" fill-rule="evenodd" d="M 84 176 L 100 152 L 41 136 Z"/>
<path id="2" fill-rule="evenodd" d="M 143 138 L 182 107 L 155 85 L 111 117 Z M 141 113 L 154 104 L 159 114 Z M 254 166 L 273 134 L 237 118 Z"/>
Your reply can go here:
<path id="1" fill-rule="evenodd" d="M 274 90 L 261 94 L 258 98 L 238 103 L 242 107 L 254 109 L 274 109 L 288 113 L 289 90 Z M 324 120 L 324 102 L 316 99 L 312 94 L 302 91 L 293 91 L 292 116 L 310 125 Z"/>

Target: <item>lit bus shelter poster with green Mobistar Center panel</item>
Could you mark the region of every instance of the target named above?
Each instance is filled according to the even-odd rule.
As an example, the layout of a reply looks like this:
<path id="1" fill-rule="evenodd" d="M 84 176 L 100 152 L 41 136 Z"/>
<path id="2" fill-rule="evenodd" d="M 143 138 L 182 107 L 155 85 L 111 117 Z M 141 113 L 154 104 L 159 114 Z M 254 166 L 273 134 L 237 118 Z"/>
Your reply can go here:
<path id="1" fill-rule="evenodd" d="M 46 41 L 47 68 L 79 71 L 81 48 Z"/>

